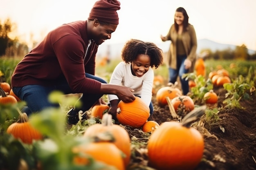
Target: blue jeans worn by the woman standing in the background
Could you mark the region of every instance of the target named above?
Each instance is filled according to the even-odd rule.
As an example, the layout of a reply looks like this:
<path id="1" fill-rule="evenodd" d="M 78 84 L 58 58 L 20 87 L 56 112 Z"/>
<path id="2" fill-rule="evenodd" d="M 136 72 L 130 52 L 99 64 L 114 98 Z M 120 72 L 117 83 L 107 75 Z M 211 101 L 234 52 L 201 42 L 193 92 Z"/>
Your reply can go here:
<path id="1" fill-rule="evenodd" d="M 186 60 L 186 55 L 177 55 L 177 69 L 169 68 L 169 76 L 171 83 L 177 81 L 177 77 L 180 77 L 181 87 L 183 95 L 189 93 L 189 81 L 182 79 L 182 75 L 189 72 L 189 69 L 185 69 L 184 61 Z"/>

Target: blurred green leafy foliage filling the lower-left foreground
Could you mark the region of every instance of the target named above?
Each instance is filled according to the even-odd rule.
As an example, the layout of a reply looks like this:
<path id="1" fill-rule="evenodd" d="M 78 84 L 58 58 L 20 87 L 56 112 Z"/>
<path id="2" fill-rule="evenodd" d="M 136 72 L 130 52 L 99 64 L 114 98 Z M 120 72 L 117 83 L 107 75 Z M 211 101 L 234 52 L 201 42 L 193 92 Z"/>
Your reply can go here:
<path id="1" fill-rule="evenodd" d="M 74 105 L 76 98 L 65 97 L 60 92 L 54 92 L 49 96 L 50 101 L 61 105 Z M 18 118 L 17 108 L 24 106 L 23 102 L 16 105 L 0 105 L 0 167 L 3 169 L 43 169 L 47 170 L 99 170 L 110 169 L 106 164 L 100 163 L 88 157 L 73 152 L 75 146 L 88 144 L 89 137 L 83 137 L 81 130 L 75 134 L 66 132 L 65 114 L 61 108 L 48 108 L 40 113 L 29 116 L 29 122 L 44 135 L 43 140 L 34 141 L 28 145 L 21 140 L 14 139 L 6 133 L 7 127 Z M 88 123 L 89 120 L 87 120 Z M 92 121 L 90 124 L 94 124 Z M 90 126 L 88 123 L 88 126 Z M 81 123 L 79 124 L 80 128 Z M 88 158 L 88 165 L 77 165 L 74 157 L 83 156 Z M 0 169 L 1 169 L 0 168 Z M 2 169 L 1 169 L 2 170 Z"/>

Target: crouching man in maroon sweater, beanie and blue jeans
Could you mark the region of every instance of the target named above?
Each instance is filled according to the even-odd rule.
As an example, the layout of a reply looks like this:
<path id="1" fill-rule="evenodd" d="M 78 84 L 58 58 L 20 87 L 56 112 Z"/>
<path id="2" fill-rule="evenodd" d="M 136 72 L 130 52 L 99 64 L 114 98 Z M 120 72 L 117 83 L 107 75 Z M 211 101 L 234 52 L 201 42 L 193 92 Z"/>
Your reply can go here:
<path id="1" fill-rule="evenodd" d="M 67 113 L 69 124 L 76 124 L 78 111 L 89 110 L 103 94 L 115 94 L 124 102 L 135 99 L 132 89 L 107 84 L 94 76 L 98 46 L 116 30 L 119 9 L 118 0 L 98 0 L 88 20 L 59 26 L 25 55 L 11 79 L 13 92 L 27 103 L 23 112 L 29 115 L 56 107 L 48 101 L 49 93 L 55 90 L 83 93 L 83 106 Z"/>

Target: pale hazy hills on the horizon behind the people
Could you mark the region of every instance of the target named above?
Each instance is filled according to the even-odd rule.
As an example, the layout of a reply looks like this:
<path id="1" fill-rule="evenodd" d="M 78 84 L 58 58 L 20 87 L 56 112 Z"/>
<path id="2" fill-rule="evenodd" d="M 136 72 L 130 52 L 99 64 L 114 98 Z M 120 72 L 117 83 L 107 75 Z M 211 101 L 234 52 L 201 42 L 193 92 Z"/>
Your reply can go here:
<path id="1" fill-rule="evenodd" d="M 164 53 L 168 51 L 169 47 L 170 47 L 170 41 L 168 42 L 160 42 L 157 43 L 157 46 L 159 46 L 159 48 L 161 48 Z M 99 57 L 104 57 L 106 56 L 107 53 L 109 53 L 110 57 L 115 58 L 115 57 L 119 57 L 121 55 L 121 50 L 124 46 L 124 43 L 116 43 L 116 44 L 102 44 L 99 46 L 98 49 L 98 53 L 97 55 Z M 225 49 L 231 49 L 231 50 L 235 50 L 236 49 L 236 45 L 232 45 L 232 44 L 221 44 L 218 42 L 214 42 L 208 39 L 201 39 L 198 40 L 198 48 L 197 48 L 197 53 L 200 53 L 200 51 L 202 49 L 211 49 L 211 51 L 222 51 Z M 248 49 L 248 53 L 250 55 L 255 54 L 256 51 Z"/>

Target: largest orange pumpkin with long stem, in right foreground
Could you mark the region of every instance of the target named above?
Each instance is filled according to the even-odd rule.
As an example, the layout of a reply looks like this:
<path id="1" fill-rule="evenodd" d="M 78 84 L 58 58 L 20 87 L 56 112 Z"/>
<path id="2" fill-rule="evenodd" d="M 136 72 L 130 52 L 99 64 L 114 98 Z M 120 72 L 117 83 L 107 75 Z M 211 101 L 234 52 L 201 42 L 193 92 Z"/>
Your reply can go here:
<path id="1" fill-rule="evenodd" d="M 204 110 L 199 111 L 204 113 Z M 181 123 L 166 121 L 152 133 L 147 146 L 149 166 L 157 170 L 193 170 L 198 166 L 203 156 L 204 139 L 190 126 L 192 117 L 184 117 L 186 121 Z"/>

